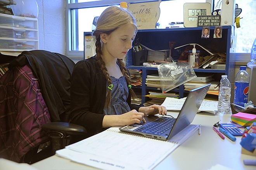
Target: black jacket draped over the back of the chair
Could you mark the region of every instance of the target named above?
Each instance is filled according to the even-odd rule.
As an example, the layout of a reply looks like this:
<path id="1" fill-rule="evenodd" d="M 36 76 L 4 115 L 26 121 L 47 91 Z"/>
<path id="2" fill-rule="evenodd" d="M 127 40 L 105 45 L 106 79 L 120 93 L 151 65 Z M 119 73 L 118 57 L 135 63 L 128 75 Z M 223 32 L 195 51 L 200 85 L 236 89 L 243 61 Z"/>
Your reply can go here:
<path id="1" fill-rule="evenodd" d="M 40 81 L 43 99 L 52 122 L 68 121 L 70 112 L 70 77 L 74 62 L 64 55 L 45 50 L 22 52 L 9 69 L 29 64 Z"/>

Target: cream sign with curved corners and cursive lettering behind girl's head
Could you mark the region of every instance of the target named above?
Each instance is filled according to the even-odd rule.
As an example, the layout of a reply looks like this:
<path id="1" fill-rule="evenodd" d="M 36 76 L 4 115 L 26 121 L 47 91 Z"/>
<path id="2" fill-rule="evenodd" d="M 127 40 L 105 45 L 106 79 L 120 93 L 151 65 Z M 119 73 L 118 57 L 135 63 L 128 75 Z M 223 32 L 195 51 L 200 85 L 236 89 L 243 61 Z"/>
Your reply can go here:
<path id="1" fill-rule="evenodd" d="M 160 16 L 161 1 L 129 3 L 128 10 L 135 17 L 138 29 L 155 29 Z"/>

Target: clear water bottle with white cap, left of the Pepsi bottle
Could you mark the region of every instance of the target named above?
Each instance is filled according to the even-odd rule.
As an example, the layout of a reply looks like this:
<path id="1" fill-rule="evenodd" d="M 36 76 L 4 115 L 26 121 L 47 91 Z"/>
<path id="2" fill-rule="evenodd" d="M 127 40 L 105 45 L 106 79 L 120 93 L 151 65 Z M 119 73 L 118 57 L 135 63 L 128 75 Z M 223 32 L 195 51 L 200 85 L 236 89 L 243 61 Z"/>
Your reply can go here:
<path id="1" fill-rule="evenodd" d="M 231 96 L 231 83 L 227 75 L 222 75 L 220 80 L 220 93 L 218 101 L 218 113 L 230 113 L 230 96 Z"/>

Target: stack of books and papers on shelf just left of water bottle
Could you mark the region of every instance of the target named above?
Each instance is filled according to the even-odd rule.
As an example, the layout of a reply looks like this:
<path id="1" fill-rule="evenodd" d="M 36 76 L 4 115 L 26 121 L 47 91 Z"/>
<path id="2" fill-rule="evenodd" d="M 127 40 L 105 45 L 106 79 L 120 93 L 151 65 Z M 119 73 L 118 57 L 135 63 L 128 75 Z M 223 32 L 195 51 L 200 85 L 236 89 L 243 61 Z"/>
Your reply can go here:
<path id="1" fill-rule="evenodd" d="M 191 81 L 184 83 L 184 88 L 185 88 L 185 90 L 190 91 L 192 89 L 199 88 L 199 87 L 204 86 L 209 83 L 211 83 L 211 86 L 208 90 L 208 94 L 219 95 L 220 82 L 214 81 L 213 74 L 207 75 L 207 76 L 206 75 L 197 75 L 197 77 L 195 77 Z"/>

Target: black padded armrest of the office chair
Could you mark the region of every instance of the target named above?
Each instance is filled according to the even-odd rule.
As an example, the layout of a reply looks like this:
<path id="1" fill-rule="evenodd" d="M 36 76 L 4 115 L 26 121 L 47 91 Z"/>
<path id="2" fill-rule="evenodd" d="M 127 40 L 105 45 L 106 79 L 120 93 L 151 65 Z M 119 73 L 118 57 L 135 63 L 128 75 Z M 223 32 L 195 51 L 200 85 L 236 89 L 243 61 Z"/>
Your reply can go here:
<path id="1" fill-rule="evenodd" d="M 46 131 L 47 134 L 52 138 L 63 138 L 73 135 L 85 135 L 87 133 L 85 127 L 67 122 L 50 122 L 42 125 L 42 129 Z M 58 135 L 53 137 L 52 135 L 54 134 Z M 59 134 L 63 134 L 63 136 L 59 136 Z"/>

